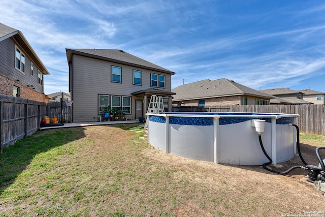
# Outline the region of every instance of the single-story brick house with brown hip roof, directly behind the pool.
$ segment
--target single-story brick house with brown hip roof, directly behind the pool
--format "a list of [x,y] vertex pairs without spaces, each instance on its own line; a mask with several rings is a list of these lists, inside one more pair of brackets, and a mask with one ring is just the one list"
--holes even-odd
[[275,99],[225,78],[184,84],[172,91],[176,92],[173,105],[178,106],[269,105]]

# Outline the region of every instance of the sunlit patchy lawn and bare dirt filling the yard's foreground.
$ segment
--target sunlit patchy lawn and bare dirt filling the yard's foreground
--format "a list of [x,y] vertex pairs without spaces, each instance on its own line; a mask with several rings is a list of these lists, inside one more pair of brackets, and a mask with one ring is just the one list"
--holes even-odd
[[[306,171],[283,176],[262,166],[186,159],[152,147],[128,127],[32,136],[39,143],[48,134],[70,140],[37,152],[6,185],[0,216],[325,216],[323,192],[303,180]],[[320,145],[301,142],[305,161],[318,165]],[[281,165],[272,169],[302,162],[295,156]]]

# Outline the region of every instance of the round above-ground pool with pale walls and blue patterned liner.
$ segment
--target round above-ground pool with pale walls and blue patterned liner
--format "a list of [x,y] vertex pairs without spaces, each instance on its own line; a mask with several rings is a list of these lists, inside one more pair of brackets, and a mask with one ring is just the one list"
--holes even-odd
[[[166,153],[216,164],[263,165],[269,162],[252,127],[265,120],[263,145],[273,164],[296,153],[298,114],[273,113],[147,113],[148,142]],[[254,125],[253,125],[254,126]]]

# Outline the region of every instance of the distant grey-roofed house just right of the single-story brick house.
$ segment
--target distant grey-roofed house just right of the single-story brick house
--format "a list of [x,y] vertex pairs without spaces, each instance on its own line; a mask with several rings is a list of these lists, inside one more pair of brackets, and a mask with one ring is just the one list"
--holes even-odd
[[263,89],[260,90],[266,94],[273,95],[275,97],[281,98],[289,103],[274,103],[271,101],[271,104],[312,104],[311,102],[303,100],[304,92],[299,90],[292,90],[289,88],[274,88],[274,89]]

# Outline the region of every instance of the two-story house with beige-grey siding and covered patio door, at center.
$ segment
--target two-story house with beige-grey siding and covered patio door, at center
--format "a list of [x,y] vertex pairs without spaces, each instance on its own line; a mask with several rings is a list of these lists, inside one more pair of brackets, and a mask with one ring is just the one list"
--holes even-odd
[[66,49],[73,122],[93,121],[102,109],[122,109],[126,118],[144,117],[152,95],[171,110],[175,73],[123,50]]

